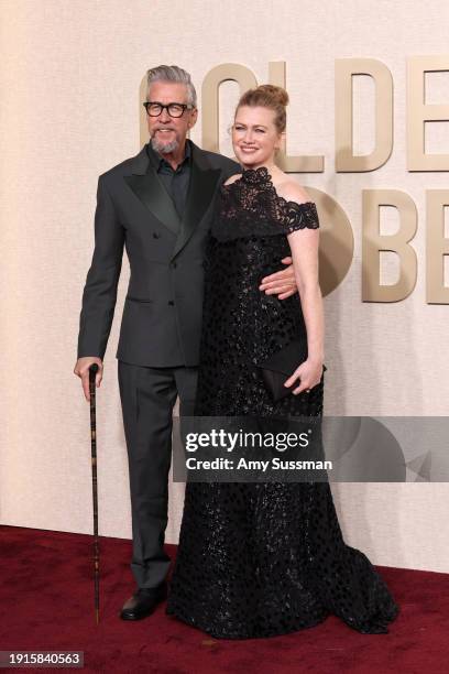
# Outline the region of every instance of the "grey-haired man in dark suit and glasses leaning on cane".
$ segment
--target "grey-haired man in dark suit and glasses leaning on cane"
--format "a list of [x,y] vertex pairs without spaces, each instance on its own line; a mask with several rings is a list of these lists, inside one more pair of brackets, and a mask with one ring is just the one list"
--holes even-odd
[[[172,412],[193,414],[202,308],[202,257],[217,191],[240,166],[201,151],[187,132],[197,120],[195,87],[177,66],[147,72],[144,104],[151,142],[100,175],[95,250],[83,294],[75,374],[89,400],[112,324],[123,246],[131,268],[120,328],[118,373],[132,507],[131,569],[138,590],[121,618],[138,620],[166,596],[164,552]],[[291,262],[289,259],[284,262]],[[293,268],[263,280],[261,291],[296,292]]]

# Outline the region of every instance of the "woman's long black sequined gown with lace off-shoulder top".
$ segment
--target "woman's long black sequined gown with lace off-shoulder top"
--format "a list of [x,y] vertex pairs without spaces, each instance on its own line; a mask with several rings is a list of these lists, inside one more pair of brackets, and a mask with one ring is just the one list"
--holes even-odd
[[[310,393],[272,402],[254,363],[305,330],[298,296],[261,279],[291,254],[286,235],[317,228],[314,203],[277,196],[265,167],[223,185],[206,256],[196,414],[322,414]],[[328,482],[187,482],[167,609],[217,639],[286,634],[333,613],[387,632],[398,607],[368,557],[347,545]]]

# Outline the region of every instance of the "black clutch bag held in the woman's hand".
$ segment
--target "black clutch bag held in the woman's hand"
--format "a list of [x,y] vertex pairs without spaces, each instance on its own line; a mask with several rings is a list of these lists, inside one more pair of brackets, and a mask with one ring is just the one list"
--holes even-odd
[[[288,379],[296,368],[307,360],[307,343],[292,341],[288,346],[281,349],[266,360],[258,365],[262,372],[265,387],[270,391],[274,402],[289,395],[298,385],[298,380],[292,387],[284,387],[284,381]],[[324,365],[322,370],[327,367]]]

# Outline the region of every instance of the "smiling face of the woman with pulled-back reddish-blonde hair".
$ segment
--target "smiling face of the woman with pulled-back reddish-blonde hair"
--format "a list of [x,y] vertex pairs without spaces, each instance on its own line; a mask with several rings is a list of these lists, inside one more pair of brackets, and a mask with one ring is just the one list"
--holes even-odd
[[274,152],[281,146],[281,133],[274,124],[275,112],[262,106],[242,106],[232,126],[232,146],[243,166],[256,168],[274,164]]

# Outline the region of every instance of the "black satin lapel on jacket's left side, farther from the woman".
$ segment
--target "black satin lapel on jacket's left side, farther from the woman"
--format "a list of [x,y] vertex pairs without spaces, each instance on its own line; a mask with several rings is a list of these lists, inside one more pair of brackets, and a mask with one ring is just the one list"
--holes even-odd
[[[142,204],[165,225],[167,229],[177,235],[180,228],[180,220],[173,200],[158,180],[157,173],[150,164],[150,161],[143,166],[141,155],[142,153],[138,155],[140,161],[136,163],[135,170],[132,171],[132,175],[125,175],[123,177]],[[145,172],[143,172],[143,170]]]

